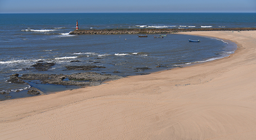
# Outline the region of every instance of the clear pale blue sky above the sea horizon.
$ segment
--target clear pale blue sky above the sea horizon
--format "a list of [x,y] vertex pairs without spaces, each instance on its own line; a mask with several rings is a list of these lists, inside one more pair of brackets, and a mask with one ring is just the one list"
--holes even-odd
[[0,13],[256,12],[256,0],[0,0]]

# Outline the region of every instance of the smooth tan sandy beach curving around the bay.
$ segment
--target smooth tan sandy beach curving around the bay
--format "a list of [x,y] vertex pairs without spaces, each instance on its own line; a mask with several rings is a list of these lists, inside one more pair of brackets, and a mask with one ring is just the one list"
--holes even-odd
[[256,31],[197,31],[235,54],[0,102],[0,139],[256,139]]

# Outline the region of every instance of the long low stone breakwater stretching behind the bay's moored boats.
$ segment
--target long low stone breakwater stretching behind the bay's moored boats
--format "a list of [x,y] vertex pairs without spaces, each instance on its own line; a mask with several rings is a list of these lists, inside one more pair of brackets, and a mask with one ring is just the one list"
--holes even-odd
[[104,30],[74,30],[70,35],[89,35],[89,34],[171,34],[174,32],[186,31],[249,31],[256,30],[256,27],[249,28],[190,28],[190,29],[104,29]]

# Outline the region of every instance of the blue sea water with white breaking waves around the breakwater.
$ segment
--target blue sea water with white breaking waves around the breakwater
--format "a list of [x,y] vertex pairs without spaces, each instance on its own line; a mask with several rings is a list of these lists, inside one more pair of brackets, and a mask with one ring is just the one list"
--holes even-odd
[[[178,29],[256,27],[256,13],[26,13],[0,14],[0,91],[10,97],[26,97],[28,85],[6,82],[11,74],[71,74],[65,66],[104,66],[98,73],[131,76],[187,64],[227,57],[236,45],[226,40],[167,34],[163,39],[137,35],[69,35],[79,29]],[[188,39],[201,40],[189,43]],[[37,71],[38,61],[55,63],[48,71]],[[71,62],[79,60],[79,62]],[[160,67],[157,67],[160,66]],[[149,67],[135,71],[138,67]],[[118,71],[120,73],[113,73]],[[32,84],[42,91],[66,90],[64,86]],[[74,88],[74,87],[70,87]]]

